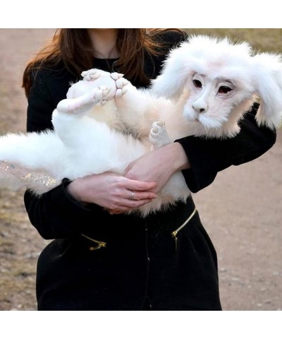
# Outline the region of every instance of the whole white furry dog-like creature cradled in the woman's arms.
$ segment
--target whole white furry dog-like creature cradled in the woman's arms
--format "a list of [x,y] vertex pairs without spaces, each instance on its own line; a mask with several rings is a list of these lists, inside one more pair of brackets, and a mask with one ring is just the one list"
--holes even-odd
[[[0,138],[0,186],[42,194],[64,177],[123,174],[135,158],[176,138],[232,137],[257,96],[259,124],[281,123],[281,56],[255,55],[246,42],[191,37],[171,51],[149,90],[117,73],[82,76],[54,110],[54,131]],[[189,194],[179,172],[138,211],[145,216]]]

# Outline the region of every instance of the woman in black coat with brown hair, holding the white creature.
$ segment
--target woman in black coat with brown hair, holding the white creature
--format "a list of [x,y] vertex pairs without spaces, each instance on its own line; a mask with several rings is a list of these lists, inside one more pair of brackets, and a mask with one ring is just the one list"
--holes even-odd
[[[81,71],[119,71],[146,87],[168,51],[185,38],[180,30],[59,30],[23,76],[27,131],[52,128],[53,110]],[[255,109],[235,138],[190,136],[143,155],[124,177],[66,178],[41,198],[27,191],[32,225],[54,239],[38,260],[38,309],[221,310],[216,251],[192,198],[147,218],[124,212],[151,201],[179,170],[197,192],[222,169],[269,150],[276,135],[257,126]]]

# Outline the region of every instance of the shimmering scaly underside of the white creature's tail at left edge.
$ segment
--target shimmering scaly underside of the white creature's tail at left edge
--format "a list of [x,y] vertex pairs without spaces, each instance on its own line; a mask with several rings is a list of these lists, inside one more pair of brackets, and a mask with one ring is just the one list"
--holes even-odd
[[36,194],[53,189],[59,183],[46,172],[37,169],[27,169],[18,164],[0,160],[0,188],[17,191],[31,189]]

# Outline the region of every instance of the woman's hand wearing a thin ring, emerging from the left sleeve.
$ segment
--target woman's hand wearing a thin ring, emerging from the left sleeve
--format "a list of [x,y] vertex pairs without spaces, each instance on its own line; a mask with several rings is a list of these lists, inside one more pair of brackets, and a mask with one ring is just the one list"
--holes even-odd
[[67,191],[82,203],[96,203],[111,213],[124,213],[157,198],[153,193],[156,185],[106,172],[76,179],[67,186]]

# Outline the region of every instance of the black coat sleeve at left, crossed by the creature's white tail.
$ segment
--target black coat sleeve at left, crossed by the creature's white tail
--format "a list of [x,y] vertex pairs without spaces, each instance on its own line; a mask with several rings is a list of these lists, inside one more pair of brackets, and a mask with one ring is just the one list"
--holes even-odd
[[[44,77],[38,75],[35,79],[28,97],[27,131],[38,132],[52,129],[51,114],[57,102],[51,97]],[[64,179],[61,185],[39,197],[29,190],[25,192],[30,222],[44,239],[72,237],[82,232],[82,227],[90,227],[89,215],[102,210],[94,204],[85,208],[75,201],[66,191],[68,184],[68,179]]]

